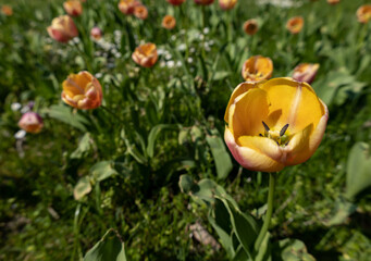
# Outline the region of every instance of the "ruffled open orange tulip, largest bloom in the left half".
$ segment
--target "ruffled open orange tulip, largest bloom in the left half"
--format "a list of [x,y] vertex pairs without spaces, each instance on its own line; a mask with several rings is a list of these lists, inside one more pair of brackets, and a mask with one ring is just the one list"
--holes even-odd
[[62,100],[77,109],[96,109],[102,102],[102,87],[89,72],[70,74],[63,82]]

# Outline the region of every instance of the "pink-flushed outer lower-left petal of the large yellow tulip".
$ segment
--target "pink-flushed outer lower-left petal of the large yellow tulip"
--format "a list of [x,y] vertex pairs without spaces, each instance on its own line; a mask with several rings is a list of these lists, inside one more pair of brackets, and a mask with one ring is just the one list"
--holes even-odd
[[236,161],[242,166],[248,170],[262,172],[277,172],[284,167],[284,164],[273,160],[272,158],[264,153],[261,153],[249,147],[238,146],[228,127],[225,128],[224,139]]

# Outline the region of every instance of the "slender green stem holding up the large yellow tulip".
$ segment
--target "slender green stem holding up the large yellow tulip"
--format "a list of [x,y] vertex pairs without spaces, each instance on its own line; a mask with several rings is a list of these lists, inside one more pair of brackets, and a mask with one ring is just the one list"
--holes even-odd
[[255,250],[258,251],[260,248],[260,245],[262,240],[265,237],[265,234],[268,232],[268,227],[271,223],[271,217],[273,213],[273,198],[274,198],[274,188],[276,183],[276,173],[270,173],[269,174],[269,192],[268,192],[268,209],[267,214],[264,217],[263,226],[260,229],[259,236],[255,243]]

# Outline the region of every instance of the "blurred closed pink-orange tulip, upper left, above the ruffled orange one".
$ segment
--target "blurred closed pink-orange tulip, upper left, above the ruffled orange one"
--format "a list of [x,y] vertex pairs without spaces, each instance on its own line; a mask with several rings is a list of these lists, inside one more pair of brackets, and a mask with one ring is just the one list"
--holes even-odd
[[69,15],[53,18],[47,30],[51,38],[60,42],[67,42],[78,35],[76,25]]

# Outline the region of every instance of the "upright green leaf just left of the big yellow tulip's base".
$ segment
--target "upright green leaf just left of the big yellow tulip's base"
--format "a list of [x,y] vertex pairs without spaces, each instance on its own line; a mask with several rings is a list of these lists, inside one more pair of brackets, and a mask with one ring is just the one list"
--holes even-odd
[[219,136],[207,136],[206,140],[214,158],[218,177],[225,178],[232,171],[233,164],[222,138]]

